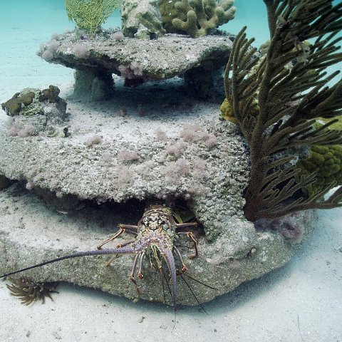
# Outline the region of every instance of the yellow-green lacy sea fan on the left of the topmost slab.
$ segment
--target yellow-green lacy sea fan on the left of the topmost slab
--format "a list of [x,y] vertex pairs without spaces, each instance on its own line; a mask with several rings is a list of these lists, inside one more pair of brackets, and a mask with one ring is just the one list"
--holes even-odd
[[122,0],[66,0],[68,19],[90,35],[97,31]]

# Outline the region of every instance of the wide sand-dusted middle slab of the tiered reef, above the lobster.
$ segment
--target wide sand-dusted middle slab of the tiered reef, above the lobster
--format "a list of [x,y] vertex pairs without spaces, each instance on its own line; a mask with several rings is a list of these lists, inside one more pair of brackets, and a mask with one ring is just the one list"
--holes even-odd
[[[190,104],[170,90],[160,90],[150,103],[156,90],[149,91],[137,103],[129,96],[134,90],[125,93],[122,101],[131,101],[127,110],[133,113],[127,117],[95,104],[78,111],[78,103],[70,102],[68,138],[11,137],[3,130],[0,174],[58,197],[190,199],[207,234],[217,236],[220,224],[213,228],[214,222],[241,215],[244,205],[248,157],[237,125],[217,120],[214,104]],[[110,103],[105,105],[110,110]]]

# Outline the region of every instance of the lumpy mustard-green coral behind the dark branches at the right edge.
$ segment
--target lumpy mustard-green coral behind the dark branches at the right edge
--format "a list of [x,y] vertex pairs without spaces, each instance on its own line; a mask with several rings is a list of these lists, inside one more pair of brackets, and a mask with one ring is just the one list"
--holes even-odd
[[342,185],[342,146],[314,145],[309,157],[299,160],[296,167],[301,169],[298,177],[316,172],[315,181],[306,186],[310,196],[324,189]]

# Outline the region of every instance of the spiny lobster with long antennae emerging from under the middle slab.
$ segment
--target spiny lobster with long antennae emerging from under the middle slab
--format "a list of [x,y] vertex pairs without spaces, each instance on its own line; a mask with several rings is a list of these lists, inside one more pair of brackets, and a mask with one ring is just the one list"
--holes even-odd
[[[98,250],[78,252],[75,254],[68,254],[56,259],[43,261],[40,264],[28,266],[24,269],[19,269],[17,271],[13,271],[7,274],[2,274],[0,278],[4,278],[6,276],[11,276],[12,274],[27,271],[28,269],[35,269],[36,267],[41,267],[46,264],[51,264],[53,262],[61,261],[64,259],[87,257],[90,255],[99,254],[115,254],[107,262],[107,265],[109,265],[117,254],[136,254],[133,261],[132,271],[130,272],[130,281],[132,281],[133,284],[135,284],[137,291],[139,293],[138,285],[135,281],[135,270],[137,268],[137,265],[139,263],[138,277],[140,279],[143,278],[143,264],[145,257],[150,257],[151,259],[154,258],[155,261],[157,261],[158,267],[161,269],[161,261],[158,256],[159,253],[162,256],[162,258],[165,259],[167,267],[170,271],[170,277],[172,281],[172,300],[174,309],[176,311],[177,269],[173,254],[175,254],[178,257],[178,259],[180,259],[180,262],[182,264],[180,274],[183,274],[185,271],[187,271],[187,266],[185,265],[182,259],[180,251],[177,249],[177,247],[175,247],[175,240],[177,235],[186,235],[187,237],[189,237],[195,245],[195,254],[190,256],[190,258],[198,257],[197,241],[194,237],[194,234],[190,231],[180,231],[181,229],[191,229],[194,227],[197,227],[197,222],[176,223],[172,209],[170,209],[169,207],[166,207],[165,205],[159,203],[149,204],[147,205],[147,207],[145,207],[145,211],[142,214],[142,218],[138,222],[138,225],[119,224],[118,232],[116,232],[109,239],[105,240],[105,242],[103,242],[102,244],[98,245]],[[124,244],[119,244],[116,248],[102,249],[103,245],[107,244],[110,241],[113,241],[124,232],[134,234],[136,236],[135,240],[126,242]]]

